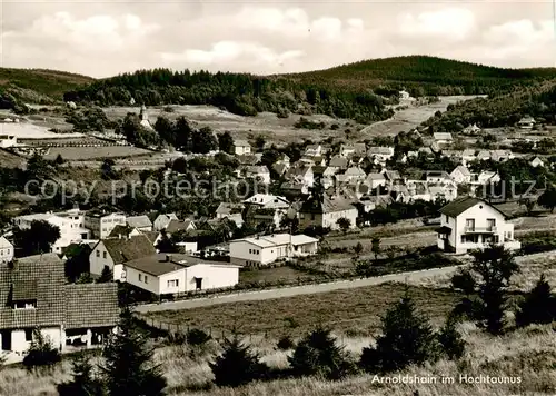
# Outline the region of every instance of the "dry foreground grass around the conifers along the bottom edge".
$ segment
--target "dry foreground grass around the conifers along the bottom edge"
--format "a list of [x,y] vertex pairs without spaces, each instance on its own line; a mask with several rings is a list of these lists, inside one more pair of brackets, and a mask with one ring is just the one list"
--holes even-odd
[[[321,378],[280,379],[252,383],[240,388],[211,387],[212,374],[207,364],[218,354],[219,347],[210,341],[202,349],[185,346],[162,346],[156,359],[168,379],[169,396],[338,396],[388,395],[407,396],[418,390],[419,396],[490,396],[555,394],[556,337],[552,326],[534,326],[502,337],[492,337],[470,324],[460,327],[468,343],[467,354],[459,363],[440,360],[435,365],[409,367],[400,375],[438,378],[436,384],[378,384],[374,376],[360,374],[340,382]],[[357,358],[371,338],[344,339],[346,349]],[[274,368],[286,368],[289,352],[276,350],[276,339],[259,337],[252,345]],[[56,385],[69,378],[70,364],[63,362],[51,372],[29,374],[17,367],[0,372],[0,395],[56,396]],[[460,375],[520,377],[520,384],[466,384]],[[441,384],[439,378],[454,377],[454,384]]]

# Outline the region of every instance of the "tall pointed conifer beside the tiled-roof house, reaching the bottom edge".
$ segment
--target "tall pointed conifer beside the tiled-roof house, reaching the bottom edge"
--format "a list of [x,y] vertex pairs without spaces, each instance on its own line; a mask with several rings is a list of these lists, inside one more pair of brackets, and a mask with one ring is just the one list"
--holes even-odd
[[118,327],[103,349],[101,370],[108,395],[163,395],[166,379],[153,364],[153,350],[146,346],[148,337],[138,328],[129,307],[122,309]]

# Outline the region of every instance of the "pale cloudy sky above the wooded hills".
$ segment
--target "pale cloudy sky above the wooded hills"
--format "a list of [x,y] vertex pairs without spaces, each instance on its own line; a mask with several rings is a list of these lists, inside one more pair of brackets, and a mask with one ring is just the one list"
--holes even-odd
[[96,78],[284,73],[404,55],[556,66],[552,0],[0,0],[0,66]]

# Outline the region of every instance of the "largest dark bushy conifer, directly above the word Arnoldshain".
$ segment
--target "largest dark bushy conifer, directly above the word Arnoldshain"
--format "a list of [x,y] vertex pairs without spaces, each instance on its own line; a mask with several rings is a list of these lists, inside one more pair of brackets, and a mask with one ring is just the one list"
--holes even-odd
[[381,328],[376,347],[363,349],[359,360],[363,369],[388,373],[439,357],[440,345],[428,319],[417,313],[407,295],[386,313]]

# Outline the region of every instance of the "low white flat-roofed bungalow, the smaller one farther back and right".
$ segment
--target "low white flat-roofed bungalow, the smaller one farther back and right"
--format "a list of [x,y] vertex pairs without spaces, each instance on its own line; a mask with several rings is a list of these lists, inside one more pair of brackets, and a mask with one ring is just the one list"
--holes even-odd
[[315,255],[318,239],[306,235],[275,234],[230,241],[230,263],[260,267],[288,257]]

